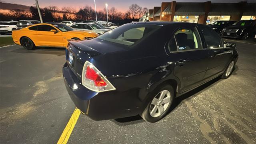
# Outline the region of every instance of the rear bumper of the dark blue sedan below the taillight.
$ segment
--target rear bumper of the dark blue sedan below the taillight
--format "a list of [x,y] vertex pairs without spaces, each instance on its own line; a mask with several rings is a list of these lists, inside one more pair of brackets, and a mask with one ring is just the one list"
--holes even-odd
[[64,64],[62,73],[70,98],[76,107],[92,120],[124,118],[139,114],[141,102],[138,99],[138,90],[94,92],[81,84],[67,63]]

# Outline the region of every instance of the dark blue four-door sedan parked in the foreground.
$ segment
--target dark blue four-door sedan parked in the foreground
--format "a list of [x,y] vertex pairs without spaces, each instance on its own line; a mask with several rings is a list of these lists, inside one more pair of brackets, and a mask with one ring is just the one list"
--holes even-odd
[[234,70],[238,52],[208,26],[135,22],[70,41],[63,76],[76,107],[93,120],[163,118],[174,98]]

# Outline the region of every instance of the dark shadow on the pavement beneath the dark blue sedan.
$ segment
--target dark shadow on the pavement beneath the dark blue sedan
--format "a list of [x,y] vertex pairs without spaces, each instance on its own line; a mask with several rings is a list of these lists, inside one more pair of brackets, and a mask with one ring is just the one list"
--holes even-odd
[[[236,66],[235,70],[234,70],[234,74],[236,74],[235,72],[238,70],[238,67]],[[172,112],[172,110],[174,110],[175,108],[178,107],[178,105],[185,99],[194,96],[194,94],[202,91],[202,90],[206,90],[210,85],[214,84],[215,82],[218,82],[218,80],[221,79],[221,76],[214,78],[213,80],[206,82],[205,84],[203,84],[202,86],[199,86],[198,88],[195,88],[194,90],[191,90],[190,92],[183,94],[177,98],[174,99],[174,103],[172,104],[168,114],[170,112]],[[192,98],[192,97],[191,97]],[[137,124],[140,122],[146,122],[144,121],[139,115],[137,116],[132,116],[132,117],[126,117],[126,118],[118,118],[115,120],[110,120],[112,122],[114,122],[115,124],[119,125],[119,126],[126,126],[126,125],[131,125],[131,124]]]

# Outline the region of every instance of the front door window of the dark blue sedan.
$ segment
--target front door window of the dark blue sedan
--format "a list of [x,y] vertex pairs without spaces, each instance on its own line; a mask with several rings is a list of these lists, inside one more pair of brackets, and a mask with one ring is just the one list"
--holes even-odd
[[216,32],[214,32],[211,28],[208,28],[206,26],[199,26],[199,28],[204,36],[207,48],[222,47],[222,41],[220,39],[220,36],[218,36]]

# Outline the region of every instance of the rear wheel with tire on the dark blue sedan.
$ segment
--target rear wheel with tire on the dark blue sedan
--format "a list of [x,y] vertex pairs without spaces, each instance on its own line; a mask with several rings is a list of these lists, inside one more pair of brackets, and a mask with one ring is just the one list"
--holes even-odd
[[151,100],[146,106],[141,117],[147,122],[157,122],[161,120],[172,105],[174,100],[174,90],[169,84],[162,84],[152,92]]

